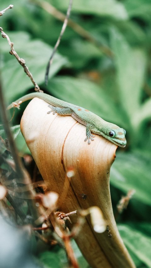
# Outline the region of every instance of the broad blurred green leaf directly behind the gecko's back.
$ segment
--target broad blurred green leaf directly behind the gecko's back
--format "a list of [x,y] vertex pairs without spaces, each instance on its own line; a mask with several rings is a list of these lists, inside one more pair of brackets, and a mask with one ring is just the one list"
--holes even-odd
[[91,81],[68,76],[58,76],[49,81],[50,94],[84,107],[104,120],[124,125],[118,108],[101,87]]

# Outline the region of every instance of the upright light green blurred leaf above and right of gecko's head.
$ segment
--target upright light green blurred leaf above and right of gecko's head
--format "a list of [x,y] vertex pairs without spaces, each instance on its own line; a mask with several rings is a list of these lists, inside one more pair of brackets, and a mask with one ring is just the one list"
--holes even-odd
[[131,120],[140,107],[146,55],[142,49],[131,48],[115,28],[111,31],[111,44],[115,55],[120,102]]

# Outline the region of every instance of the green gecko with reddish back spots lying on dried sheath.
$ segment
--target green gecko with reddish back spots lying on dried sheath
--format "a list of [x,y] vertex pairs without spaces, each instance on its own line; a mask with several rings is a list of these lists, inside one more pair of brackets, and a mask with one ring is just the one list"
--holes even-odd
[[[60,115],[71,115],[79,123],[86,126],[86,138],[84,141],[88,140],[88,144],[90,144],[90,140],[94,140],[93,138],[95,136],[92,133],[95,133],[103,136],[110,142],[113,142],[120,147],[126,146],[126,131],[123,128],[120,128],[115,124],[103,120],[98,115],[93,114],[92,112],[82,107],[76,106],[74,104],[65,102],[63,100],[54,98],[48,94],[40,92],[27,94],[22,98],[16,100],[15,103],[20,104],[33,98],[40,98],[53,106],[52,107],[51,105],[48,105],[49,107],[51,107],[51,111],[49,111],[48,114],[53,112],[53,114],[58,113]],[[11,109],[14,106],[14,103],[11,103],[7,109]]]

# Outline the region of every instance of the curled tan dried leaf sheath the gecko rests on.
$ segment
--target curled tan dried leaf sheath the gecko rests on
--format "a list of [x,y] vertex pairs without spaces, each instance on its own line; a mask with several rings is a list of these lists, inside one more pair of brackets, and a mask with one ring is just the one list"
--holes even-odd
[[[117,146],[96,135],[90,145],[84,142],[86,128],[71,116],[47,114],[48,103],[34,98],[21,119],[21,131],[47,183],[59,193],[59,210],[68,213],[98,206],[109,226],[96,233],[87,216],[76,237],[81,252],[91,267],[135,267],[116,227],[109,190],[109,172]],[[75,175],[65,183],[68,168]],[[72,216],[72,223],[77,216]]]

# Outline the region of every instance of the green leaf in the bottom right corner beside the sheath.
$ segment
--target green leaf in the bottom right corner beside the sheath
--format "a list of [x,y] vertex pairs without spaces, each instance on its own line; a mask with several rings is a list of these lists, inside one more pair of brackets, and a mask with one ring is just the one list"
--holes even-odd
[[126,224],[119,224],[118,229],[126,247],[147,267],[151,267],[151,238]]

